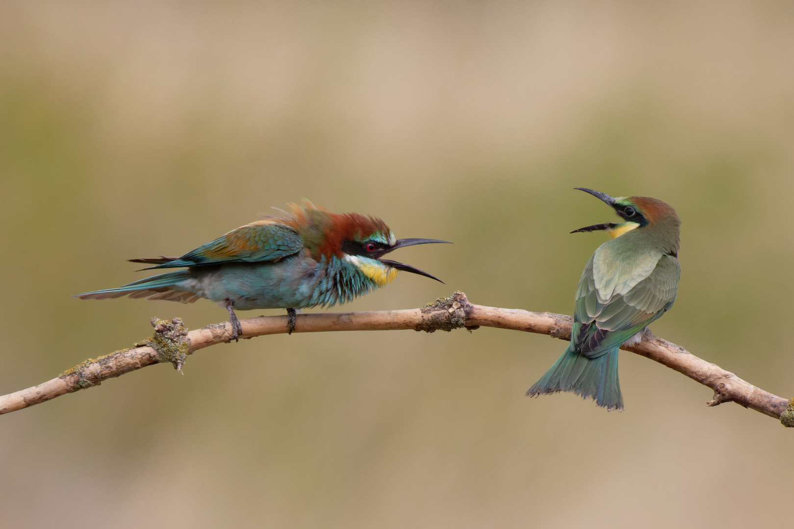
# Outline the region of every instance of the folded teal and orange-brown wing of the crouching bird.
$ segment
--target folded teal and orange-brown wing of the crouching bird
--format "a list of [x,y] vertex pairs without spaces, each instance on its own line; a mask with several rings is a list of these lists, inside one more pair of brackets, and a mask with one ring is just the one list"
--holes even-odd
[[301,249],[303,249],[303,239],[294,228],[276,219],[265,219],[234,229],[179,258],[132,259],[132,261],[156,264],[151,268],[262,263],[278,261]]

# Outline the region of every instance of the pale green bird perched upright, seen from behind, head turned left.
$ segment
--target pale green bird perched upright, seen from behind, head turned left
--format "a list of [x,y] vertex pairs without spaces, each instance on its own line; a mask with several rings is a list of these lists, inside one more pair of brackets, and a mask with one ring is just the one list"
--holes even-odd
[[673,208],[656,198],[613,198],[576,189],[611,205],[625,222],[571,232],[604,230],[612,239],[584,266],[570,345],[526,395],[572,391],[609,410],[622,410],[618,350],[624,343],[638,343],[646,326],[676,300],[680,220]]

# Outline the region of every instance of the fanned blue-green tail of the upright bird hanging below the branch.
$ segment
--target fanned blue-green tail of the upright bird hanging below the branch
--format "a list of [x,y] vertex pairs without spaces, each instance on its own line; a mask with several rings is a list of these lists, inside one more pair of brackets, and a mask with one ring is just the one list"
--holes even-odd
[[618,379],[618,347],[596,358],[565,350],[546,374],[526,392],[527,397],[572,391],[580,397],[592,397],[595,404],[609,410],[623,409]]

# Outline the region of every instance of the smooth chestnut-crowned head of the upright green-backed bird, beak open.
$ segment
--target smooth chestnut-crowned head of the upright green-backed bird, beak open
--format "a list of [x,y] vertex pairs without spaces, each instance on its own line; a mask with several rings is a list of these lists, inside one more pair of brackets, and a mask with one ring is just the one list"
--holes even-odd
[[643,232],[653,233],[655,238],[660,240],[665,251],[671,255],[677,254],[680,246],[679,227],[681,223],[676,215],[676,210],[665,202],[651,197],[610,197],[608,194],[588,190],[585,187],[574,189],[592,194],[611,205],[612,209],[615,209],[615,213],[618,213],[618,216],[624,221],[593,224],[571,233],[603,230],[615,239],[634,229],[642,229]]

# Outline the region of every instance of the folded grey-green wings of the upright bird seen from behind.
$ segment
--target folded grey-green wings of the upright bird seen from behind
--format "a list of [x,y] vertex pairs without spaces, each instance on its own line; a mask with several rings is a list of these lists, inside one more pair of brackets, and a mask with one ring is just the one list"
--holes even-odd
[[[680,277],[678,259],[661,254],[651,256],[658,260],[648,273],[638,273],[637,267],[622,271],[617,267],[617,277],[604,281],[595,277],[593,258],[584,267],[576,291],[571,340],[572,348],[587,358],[619,347],[664,314],[673,306]],[[597,288],[599,283],[609,287],[607,297]]]

